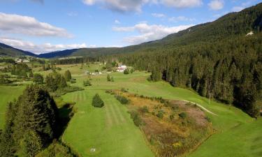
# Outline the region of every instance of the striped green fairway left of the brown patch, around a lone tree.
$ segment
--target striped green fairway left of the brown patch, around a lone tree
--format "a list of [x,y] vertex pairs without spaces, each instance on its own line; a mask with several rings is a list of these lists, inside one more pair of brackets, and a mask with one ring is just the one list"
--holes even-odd
[[[105,106],[91,105],[94,92]],[[104,91],[78,91],[64,96],[75,100],[78,112],[71,120],[63,140],[82,156],[154,156],[139,128],[133,125],[126,107]],[[92,152],[91,150],[96,151]]]

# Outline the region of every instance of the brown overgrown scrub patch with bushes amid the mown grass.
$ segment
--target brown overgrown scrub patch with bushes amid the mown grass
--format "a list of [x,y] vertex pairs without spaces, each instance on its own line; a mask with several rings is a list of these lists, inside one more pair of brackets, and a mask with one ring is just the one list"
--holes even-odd
[[110,93],[129,99],[127,107],[136,115],[134,123],[143,130],[156,156],[182,156],[213,133],[205,113],[196,105],[117,90]]

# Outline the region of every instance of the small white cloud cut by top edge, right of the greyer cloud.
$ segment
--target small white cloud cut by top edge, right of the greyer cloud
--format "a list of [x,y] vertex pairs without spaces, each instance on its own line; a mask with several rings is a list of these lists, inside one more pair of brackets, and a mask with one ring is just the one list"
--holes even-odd
[[160,0],[165,6],[175,8],[192,8],[203,4],[202,0]]

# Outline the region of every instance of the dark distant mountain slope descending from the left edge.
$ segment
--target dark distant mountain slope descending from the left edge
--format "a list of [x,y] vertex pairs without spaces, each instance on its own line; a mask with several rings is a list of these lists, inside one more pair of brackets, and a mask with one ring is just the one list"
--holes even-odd
[[0,43],[0,57],[17,57],[17,56],[31,56],[31,57],[38,57],[37,54],[20,50],[11,46],[8,46],[6,44]]

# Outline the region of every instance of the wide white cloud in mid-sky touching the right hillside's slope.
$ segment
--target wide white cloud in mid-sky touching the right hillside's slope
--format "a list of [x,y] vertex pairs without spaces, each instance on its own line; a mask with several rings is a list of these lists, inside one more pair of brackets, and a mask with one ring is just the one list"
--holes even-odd
[[138,31],[138,36],[129,36],[124,38],[124,41],[129,44],[139,44],[150,40],[158,40],[170,33],[177,33],[189,27],[194,26],[193,24],[182,25],[178,27],[166,27],[163,25],[149,25],[147,23],[139,23],[133,27],[113,27],[114,31]]

